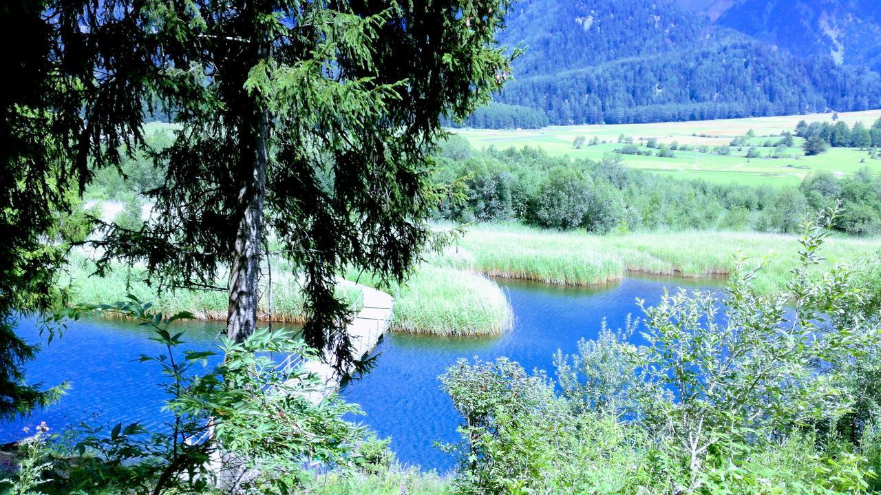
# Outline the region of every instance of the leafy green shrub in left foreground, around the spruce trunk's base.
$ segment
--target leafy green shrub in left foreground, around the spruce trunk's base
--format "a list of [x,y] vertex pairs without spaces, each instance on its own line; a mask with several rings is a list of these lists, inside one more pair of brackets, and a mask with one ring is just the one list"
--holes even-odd
[[[109,432],[82,425],[74,443],[55,447],[53,469],[63,477],[51,481],[54,492],[287,493],[307,482],[307,462],[350,463],[362,431],[342,417],[359,410],[324,396],[322,380],[302,365],[315,352],[292,332],[259,329],[242,343],[223,339],[223,361],[202,374],[215,351],[189,349],[183,333],[174,333],[174,321],[192,315],[163,317],[150,307],[132,297],[74,314],[111,312],[155,330],[166,351],[139,360],[160,367],[171,421],[155,432],[139,423]],[[293,366],[278,366],[273,354],[289,356]]]

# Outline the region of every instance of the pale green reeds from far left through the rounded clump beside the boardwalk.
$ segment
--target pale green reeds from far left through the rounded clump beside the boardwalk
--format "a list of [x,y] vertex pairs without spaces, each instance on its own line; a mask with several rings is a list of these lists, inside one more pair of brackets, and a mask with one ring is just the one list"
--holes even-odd
[[[406,284],[381,288],[395,296],[392,329],[403,333],[436,336],[493,336],[511,327],[513,316],[505,294],[498,284],[469,269],[468,263],[449,266],[453,257],[436,257],[441,265],[423,264]],[[265,286],[259,306],[259,318],[300,324],[306,321],[300,279],[292,271],[281,270],[284,263],[275,263],[279,270],[272,275],[271,305]],[[189,311],[201,320],[225,320],[227,294],[223,291],[176,290],[157,292],[144,284],[144,269],[118,265],[106,277],[93,276],[94,263],[82,255],[70,258],[72,304],[112,303],[133,294],[150,301],[164,314]],[[371,277],[348,274],[341,280],[337,295],[349,304],[356,304],[360,291],[353,283],[375,286]],[[265,284],[265,280],[264,280]]]

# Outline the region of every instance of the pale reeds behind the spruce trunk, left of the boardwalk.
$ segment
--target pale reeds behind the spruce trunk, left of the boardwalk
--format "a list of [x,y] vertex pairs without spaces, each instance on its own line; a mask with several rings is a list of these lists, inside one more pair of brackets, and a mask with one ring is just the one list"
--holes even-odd
[[[164,314],[189,311],[201,320],[226,320],[229,304],[226,291],[179,289],[157,292],[156,287],[144,283],[143,268],[116,265],[106,277],[93,276],[94,270],[94,262],[84,256],[70,256],[70,275],[62,282],[70,284],[73,304],[109,304],[124,299],[126,294],[132,294],[138,299],[152,302],[153,308]],[[272,274],[272,290],[266,291],[266,286],[264,279],[258,306],[261,320],[284,323],[306,321],[305,299],[298,277],[290,271],[278,270]],[[337,296],[349,304],[355,304],[359,294],[354,284],[343,281],[337,285]]]

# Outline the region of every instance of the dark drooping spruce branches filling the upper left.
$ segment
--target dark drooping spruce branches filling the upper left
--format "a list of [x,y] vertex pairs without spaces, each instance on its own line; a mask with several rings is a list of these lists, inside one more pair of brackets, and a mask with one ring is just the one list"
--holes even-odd
[[[351,362],[335,277],[401,278],[430,235],[429,153],[503,84],[508,2],[15,1],[0,8],[4,321],[51,307],[63,214],[94,171],[147,153],[167,170],[151,222],[103,225],[103,261],[144,262],[165,288],[230,293],[227,334],[256,321],[266,255],[292,261],[313,314],[304,335]],[[153,149],[149,115],[173,115]],[[79,240],[82,236],[80,236]],[[228,281],[228,283],[226,283]],[[14,297],[13,297],[14,296]],[[5,349],[33,354],[4,326]],[[351,364],[351,363],[350,363]],[[4,394],[21,382],[16,366]],[[12,403],[17,399],[11,399]],[[29,400],[29,403],[33,403]]]

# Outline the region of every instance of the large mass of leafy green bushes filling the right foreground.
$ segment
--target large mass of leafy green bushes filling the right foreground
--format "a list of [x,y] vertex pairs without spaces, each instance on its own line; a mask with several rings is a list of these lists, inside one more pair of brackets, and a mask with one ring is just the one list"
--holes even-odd
[[[784,292],[741,260],[724,297],[639,302],[637,328],[555,356],[559,388],[506,358],[441,376],[462,416],[459,493],[859,494],[881,466],[877,312],[814,268],[837,211],[803,224]],[[871,357],[870,360],[866,360]]]

